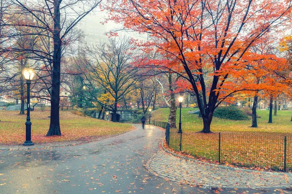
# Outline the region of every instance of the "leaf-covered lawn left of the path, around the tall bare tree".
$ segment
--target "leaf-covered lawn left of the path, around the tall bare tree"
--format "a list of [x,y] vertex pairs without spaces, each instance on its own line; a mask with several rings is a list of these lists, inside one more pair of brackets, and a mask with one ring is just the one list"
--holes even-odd
[[[60,111],[60,128],[62,136],[46,137],[50,126],[50,111],[31,112],[32,141],[35,144],[64,142],[75,140],[92,140],[98,137],[120,134],[132,129],[124,123],[113,123],[79,116],[70,111]],[[26,115],[19,111],[0,111],[0,145],[19,145],[25,141]]]

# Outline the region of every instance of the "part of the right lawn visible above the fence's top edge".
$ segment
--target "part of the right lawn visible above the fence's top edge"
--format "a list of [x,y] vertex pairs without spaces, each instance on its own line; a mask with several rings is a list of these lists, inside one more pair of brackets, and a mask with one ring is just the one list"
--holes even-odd
[[[193,108],[182,108],[182,129],[186,131],[200,131],[203,123],[198,114],[189,114],[188,111],[193,111]],[[177,125],[179,122],[179,109],[177,110]],[[151,113],[151,119],[155,121],[168,121],[169,109],[158,109]],[[211,131],[256,131],[256,132],[281,132],[292,133],[291,114],[292,111],[277,111],[277,116],[273,116],[273,123],[268,123],[269,111],[258,110],[257,114],[261,118],[257,119],[258,128],[250,128],[251,120],[234,121],[228,119],[220,119],[213,117]],[[274,114],[274,112],[273,112]],[[178,126],[177,126],[178,127]]]

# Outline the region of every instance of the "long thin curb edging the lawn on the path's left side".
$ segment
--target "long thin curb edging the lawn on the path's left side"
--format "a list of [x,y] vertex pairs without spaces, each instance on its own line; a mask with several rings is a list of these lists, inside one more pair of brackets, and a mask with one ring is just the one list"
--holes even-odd
[[108,136],[108,137],[100,137],[99,139],[94,139],[94,140],[90,140],[90,141],[84,141],[84,142],[76,142],[76,143],[70,143],[70,144],[58,144],[58,145],[55,145],[55,146],[29,146],[29,147],[26,147],[26,146],[18,146],[18,147],[8,147],[6,146],[7,148],[5,148],[4,146],[1,147],[0,146],[0,151],[1,150],[5,150],[5,151],[9,151],[9,150],[30,150],[30,149],[49,149],[49,148],[55,148],[55,147],[66,147],[66,146],[78,146],[78,145],[81,145],[81,144],[88,144],[88,143],[91,143],[91,142],[98,142],[98,141],[101,141],[101,140],[104,140],[104,139],[107,139],[107,138],[111,138],[111,137],[115,137],[115,136],[118,136],[118,135],[122,135],[122,134],[125,134],[125,133],[128,133],[132,130],[135,130],[137,129],[135,126],[133,126],[133,128],[129,131],[126,131],[126,132],[123,132],[123,133],[119,133],[119,134],[115,134],[115,135],[111,135],[111,136]]

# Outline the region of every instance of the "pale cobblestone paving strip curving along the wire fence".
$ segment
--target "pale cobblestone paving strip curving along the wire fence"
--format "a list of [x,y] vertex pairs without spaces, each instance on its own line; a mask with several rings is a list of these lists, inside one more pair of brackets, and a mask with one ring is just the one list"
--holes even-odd
[[162,148],[151,157],[147,167],[159,177],[203,187],[285,188],[292,185],[290,173],[262,172],[186,160]]

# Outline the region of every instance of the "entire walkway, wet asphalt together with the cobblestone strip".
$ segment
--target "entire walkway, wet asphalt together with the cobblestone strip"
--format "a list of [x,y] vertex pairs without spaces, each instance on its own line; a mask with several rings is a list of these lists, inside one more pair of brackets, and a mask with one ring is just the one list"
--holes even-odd
[[0,150],[0,194],[292,191],[291,174],[248,171],[175,157],[159,147],[163,130],[135,126],[136,130],[122,135],[77,146]]

